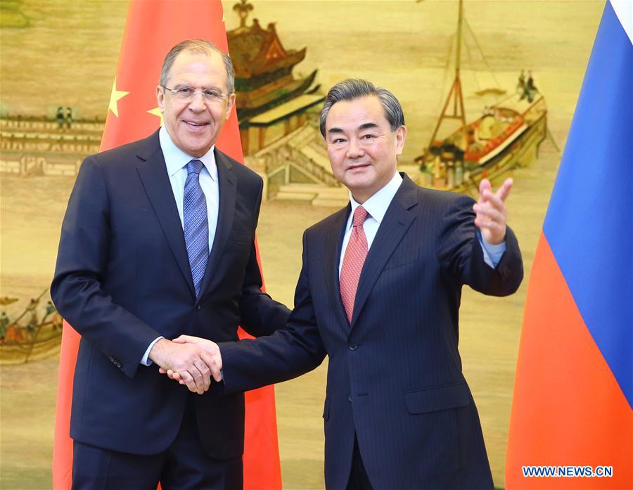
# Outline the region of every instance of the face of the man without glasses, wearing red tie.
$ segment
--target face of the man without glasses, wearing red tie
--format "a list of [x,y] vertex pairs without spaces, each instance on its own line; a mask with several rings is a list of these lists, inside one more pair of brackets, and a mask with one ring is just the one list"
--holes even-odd
[[407,129],[391,130],[381,101],[364,96],[335,103],[326,117],[326,143],[332,172],[362,203],[396,172]]

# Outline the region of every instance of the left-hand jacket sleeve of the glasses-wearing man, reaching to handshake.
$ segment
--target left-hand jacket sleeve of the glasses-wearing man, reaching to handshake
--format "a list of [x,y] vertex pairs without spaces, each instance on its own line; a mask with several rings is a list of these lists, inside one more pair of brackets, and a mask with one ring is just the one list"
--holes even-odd
[[133,378],[148,345],[160,334],[103,290],[110,214],[102,172],[94,157],[79,169],[62,224],[51,298],[72,328]]

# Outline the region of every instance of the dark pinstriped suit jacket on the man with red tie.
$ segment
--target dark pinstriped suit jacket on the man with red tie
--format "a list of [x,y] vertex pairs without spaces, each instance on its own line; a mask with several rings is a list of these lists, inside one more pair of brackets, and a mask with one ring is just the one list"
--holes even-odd
[[305,231],[288,328],[221,345],[226,392],[293,378],[328,355],[328,489],[347,484],[354,433],[376,489],[492,488],[457,350],[461,287],[509,295],[523,264],[510,228],[497,269],[485,264],[472,205],[404,176],[366,258],[351,325],[338,286],[348,205]]

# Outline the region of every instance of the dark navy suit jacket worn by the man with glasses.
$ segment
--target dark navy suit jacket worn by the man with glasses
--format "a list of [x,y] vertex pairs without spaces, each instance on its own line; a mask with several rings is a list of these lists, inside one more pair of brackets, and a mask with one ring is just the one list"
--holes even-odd
[[[262,179],[215,150],[219,215],[198,300],[158,132],[84,160],[63,221],[51,296],[81,335],[70,435],[153,454],[174,441],[186,387],[141,366],[158,335],[237,340],[238,324],[270,334],[289,311],[261,292],[253,243]],[[243,394],[195,396],[215,458],[243,452]]]

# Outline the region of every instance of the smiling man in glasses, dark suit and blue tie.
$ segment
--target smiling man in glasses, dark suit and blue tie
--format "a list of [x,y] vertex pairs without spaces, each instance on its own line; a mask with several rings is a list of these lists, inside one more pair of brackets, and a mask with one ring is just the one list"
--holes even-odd
[[209,354],[169,339],[286,323],[261,291],[262,179],[215,148],[235,101],[226,54],[199,39],[174,46],[156,90],[163,127],[87,157],[63,221],[51,295],[82,335],[73,487],[241,488],[243,394],[220,398]]

